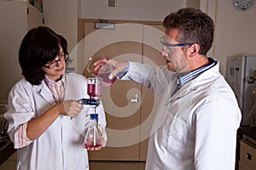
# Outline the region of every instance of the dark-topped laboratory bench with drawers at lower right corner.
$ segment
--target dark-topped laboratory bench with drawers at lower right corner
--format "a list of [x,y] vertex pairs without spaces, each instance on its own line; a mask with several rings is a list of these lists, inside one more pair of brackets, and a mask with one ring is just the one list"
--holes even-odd
[[255,170],[256,127],[239,127],[236,141],[236,170]]

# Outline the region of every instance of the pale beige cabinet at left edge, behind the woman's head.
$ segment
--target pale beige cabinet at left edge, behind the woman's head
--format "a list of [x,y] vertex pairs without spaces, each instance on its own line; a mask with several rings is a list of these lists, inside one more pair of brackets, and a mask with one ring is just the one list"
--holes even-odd
[[21,78],[18,59],[20,41],[26,32],[43,25],[43,14],[26,1],[0,1],[0,101],[8,98],[9,90]]

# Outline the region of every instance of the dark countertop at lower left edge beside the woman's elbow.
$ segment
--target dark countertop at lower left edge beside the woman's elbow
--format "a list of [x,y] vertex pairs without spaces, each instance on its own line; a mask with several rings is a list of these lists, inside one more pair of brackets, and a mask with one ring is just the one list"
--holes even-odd
[[2,143],[1,146],[3,146],[0,148],[0,165],[2,165],[15,152],[15,149],[9,138],[0,139],[0,142]]

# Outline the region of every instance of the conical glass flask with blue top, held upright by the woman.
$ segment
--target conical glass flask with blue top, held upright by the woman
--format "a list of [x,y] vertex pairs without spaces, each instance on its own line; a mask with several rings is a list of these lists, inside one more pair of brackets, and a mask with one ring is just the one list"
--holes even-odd
[[90,127],[84,138],[84,148],[96,148],[102,146],[102,134],[98,126],[98,114],[90,114]]

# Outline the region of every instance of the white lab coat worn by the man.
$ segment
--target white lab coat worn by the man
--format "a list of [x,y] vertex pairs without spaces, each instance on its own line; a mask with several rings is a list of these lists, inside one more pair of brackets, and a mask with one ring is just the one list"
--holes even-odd
[[176,94],[176,74],[165,67],[130,63],[124,80],[162,94],[148,143],[147,170],[234,170],[241,111],[218,65]]

